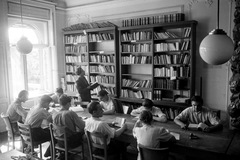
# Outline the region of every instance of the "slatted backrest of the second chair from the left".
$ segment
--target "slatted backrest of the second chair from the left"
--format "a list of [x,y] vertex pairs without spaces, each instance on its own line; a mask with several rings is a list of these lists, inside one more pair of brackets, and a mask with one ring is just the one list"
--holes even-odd
[[22,141],[30,145],[31,150],[34,151],[31,126],[27,124],[22,124],[20,122],[17,122],[17,124],[18,124],[18,129],[19,129]]

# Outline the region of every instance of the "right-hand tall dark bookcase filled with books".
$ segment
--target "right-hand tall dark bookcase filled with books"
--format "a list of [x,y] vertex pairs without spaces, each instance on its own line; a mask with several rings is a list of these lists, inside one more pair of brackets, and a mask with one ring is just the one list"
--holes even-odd
[[195,93],[196,21],[119,28],[120,99],[138,106],[144,98],[169,119]]

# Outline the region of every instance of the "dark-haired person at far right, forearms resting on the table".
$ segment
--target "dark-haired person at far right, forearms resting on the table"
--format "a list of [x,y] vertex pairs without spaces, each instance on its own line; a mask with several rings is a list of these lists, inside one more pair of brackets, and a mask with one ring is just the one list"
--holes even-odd
[[188,124],[205,123],[208,125],[203,131],[211,132],[216,129],[221,129],[222,124],[219,118],[206,107],[203,107],[203,99],[200,96],[193,96],[191,98],[192,106],[183,110],[174,122],[182,129],[187,129]]

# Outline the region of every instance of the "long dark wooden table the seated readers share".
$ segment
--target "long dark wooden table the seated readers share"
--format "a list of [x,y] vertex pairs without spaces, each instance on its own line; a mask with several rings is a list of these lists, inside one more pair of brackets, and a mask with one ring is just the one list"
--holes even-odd
[[[90,117],[91,115],[86,111],[77,112],[78,116]],[[103,115],[101,118],[106,122],[112,122],[116,117],[126,118],[127,130],[117,137],[116,139],[128,143],[135,143],[132,135],[132,129],[136,122],[136,119],[131,115],[118,114],[115,115]],[[226,159],[225,155],[228,151],[229,146],[235,136],[233,130],[224,128],[222,131],[215,131],[213,133],[205,133],[200,131],[186,131],[180,129],[173,121],[168,121],[167,123],[153,122],[153,125],[164,127],[171,132],[180,134],[180,140],[178,140],[171,148],[171,152],[178,153],[185,156],[197,157],[199,159]],[[199,139],[191,140],[189,139],[189,134],[193,133],[197,135]],[[240,134],[239,134],[240,136]],[[238,139],[239,140],[239,139]],[[239,142],[239,141],[238,141]],[[231,147],[230,147],[231,148]],[[233,149],[234,150],[234,149]],[[229,154],[230,151],[229,151]],[[240,153],[238,153],[240,154]]]

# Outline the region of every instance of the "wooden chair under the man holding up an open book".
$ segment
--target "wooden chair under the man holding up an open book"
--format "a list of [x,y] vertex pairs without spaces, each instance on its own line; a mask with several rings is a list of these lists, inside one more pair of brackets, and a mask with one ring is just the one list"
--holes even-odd
[[[87,142],[88,142],[90,160],[95,160],[95,159],[109,160],[109,159],[119,158],[120,154],[108,155],[107,135],[103,135],[102,133],[97,133],[97,132],[91,133],[89,131],[85,131],[85,134],[86,134]],[[97,138],[102,139],[103,145],[94,143],[92,137],[97,137]],[[94,153],[94,149],[103,150],[103,154]]]

